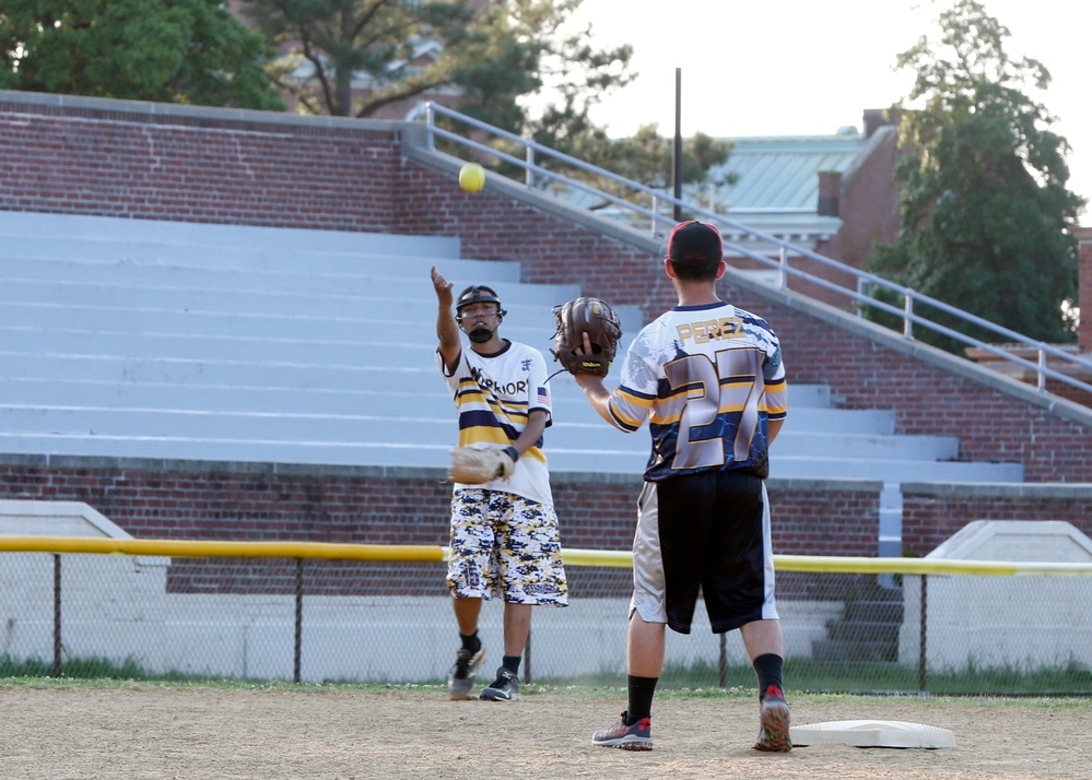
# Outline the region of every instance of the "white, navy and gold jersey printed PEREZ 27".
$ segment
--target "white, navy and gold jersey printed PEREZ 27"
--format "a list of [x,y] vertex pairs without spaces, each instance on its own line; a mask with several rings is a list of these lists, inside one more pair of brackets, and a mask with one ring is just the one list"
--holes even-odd
[[626,352],[611,393],[615,427],[647,419],[653,450],[645,478],[760,471],[767,421],[782,419],[788,390],[770,324],[726,303],[677,306],[645,326]]

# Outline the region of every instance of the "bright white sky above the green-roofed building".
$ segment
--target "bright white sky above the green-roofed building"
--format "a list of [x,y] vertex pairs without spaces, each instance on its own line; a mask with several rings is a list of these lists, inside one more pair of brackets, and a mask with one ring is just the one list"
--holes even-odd
[[[1092,202],[1092,5],[1073,0],[981,0],[1011,34],[1010,59],[1036,59],[1050,72],[1044,92],[1025,90],[1066,138],[1069,189]],[[899,54],[938,37],[935,20],[951,0],[584,0],[571,23],[590,23],[599,48],[630,44],[639,75],[592,118],[615,138],[657,123],[673,135],[680,72],[683,137],[833,134],[861,129],[868,108],[905,97],[909,70]],[[1081,218],[1092,225],[1092,206]]]

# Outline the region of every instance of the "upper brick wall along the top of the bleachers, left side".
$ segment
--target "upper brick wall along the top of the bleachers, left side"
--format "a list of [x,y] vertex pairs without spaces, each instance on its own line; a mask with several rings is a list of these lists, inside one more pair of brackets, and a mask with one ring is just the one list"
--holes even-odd
[[389,126],[5,95],[17,93],[0,92],[3,210],[339,231],[391,223],[400,158]]

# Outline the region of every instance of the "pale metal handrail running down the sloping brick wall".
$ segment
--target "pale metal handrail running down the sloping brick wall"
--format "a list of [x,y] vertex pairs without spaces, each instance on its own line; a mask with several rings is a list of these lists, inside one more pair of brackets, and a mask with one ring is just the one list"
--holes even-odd
[[[470,129],[486,133],[493,139],[510,142],[516,147],[524,149],[525,155],[524,157],[517,157],[494,149],[486,143],[475,141],[467,135],[451,132],[450,130],[438,127],[436,123],[437,116],[448,117],[457,122],[460,122],[461,125],[468,126]],[[1048,358],[1053,358],[1056,366],[1061,364],[1064,368],[1069,368],[1070,370],[1075,370],[1080,374],[1092,375],[1092,361],[1080,357],[1079,355],[1073,355],[1072,353],[1066,352],[1065,350],[1042,341],[1032,340],[1013,330],[1009,330],[1008,328],[946,304],[942,300],[918,293],[909,287],[895,284],[894,282],[883,279],[882,276],[878,276],[867,271],[861,271],[853,265],[847,265],[846,263],[834,260],[833,258],[829,258],[805,247],[783,240],[776,236],[763,233],[762,231],[758,231],[724,214],[717,214],[716,212],[709,211],[702,206],[677,199],[670,194],[623,178],[617,174],[612,174],[609,170],[590,165],[589,163],[562,152],[555,152],[548,146],[536,143],[535,141],[530,141],[505,130],[501,130],[500,128],[486,125],[485,122],[474,119],[473,117],[451,110],[450,108],[439,104],[427,104],[424,113],[424,122],[427,129],[427,144],[430,149],[435,149],[435,140],[437,138],[442,138],[467,149],[503,161],[524,170],[524,182],[528,188],[544,189],[545,186],[552,184],[563,186],[568,191],[576,191],[586,196],[591,196],[600,202],[615,208],[619,215],[626,218],[631,224],[635,224],[639,227],[642,224],[647,223],[649,235],[655,237],[666,237],[668,235],[670,229],[676,224],[674,210],[676,206],[679,206],[685,210],[688,214],[692,214],[696,218],[701,218],[716,225],[723,234],[740,234],[748,236],[751,239],[763,241],[772,247],[776,247],[778,257],[772,258],[765,253],[748,249],[733,241],[725,240],[726,252],[733,252],[737,256],[749,258],[758,262],[760,265],[777,271],[778,287],[787,287],[788,276],[792,276],[795,279],[807,281],[808,283],[814,284],[824,289],[846,296],[857,304],[856,311],[858,317],[864,316],[862,305],[867,305],[873,309],[892,315],[893,317],[902,320],[902,334],[907,340],[914,340],[914,327],[918,326],[925,330],[953,339],[965,346],[982,350],[983,352],[994,355],[995,357],[1032,371],[1036,378],[1036,388],[1041,392],[1046,392],[1046,380],[1049,378],[1078,390],[1092,393],[1092,383],[1082,381],[1077,377],[1069,376],[1065,373],[1065,370],[1052,368],[1047,362]],[[643,206],[639,203],[634,203],[632,200],[620,198],[586,182],[571,179],[563,174],[556,173],[543,166],[542,161],[572,166],[590,174],[597,179],[613,182],[622,188],[623,191],[632,193],[632,196],[637,200],[647,198],[649,204],[648,206]],[[542,182],[545,182],[545,185]],[[743,213],[743,210],[738,211]],[[790,213],[790,211],[792,213],[797,213],[792,210],[782,210],[778,211],[778,213]],[[820,265],[850,275],[856,280],[856,288],[850,289],[843,285],[835,284],[822,276],[817,276],[801,269],[794,268],[788,262],[789,256],[807,258],[819,263]],[[892,306],[883,300],[866,295],[862,291],[868,289],[869,287],[885,289],[894,293],[896,296],[901,296],[904,302],[903,306]],[[932,307],[934,309],[950,315],[958,320],[976,326],[990,333],[995,333],[999,340],[1003,340],[1017,348],[1024,347],[1034,350],[1036,359],[1029,361],[1019,354],[1014,354],[1013,352],[997,346],[996,344],[979,341],[978,339],[960,333],[959,331],[940,324],[939,322],[934,322],[915,311],[915,308],[918,305]]]

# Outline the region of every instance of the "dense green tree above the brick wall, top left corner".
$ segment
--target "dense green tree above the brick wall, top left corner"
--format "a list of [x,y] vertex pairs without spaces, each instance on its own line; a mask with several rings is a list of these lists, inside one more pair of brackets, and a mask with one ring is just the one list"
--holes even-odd
[[0,88],[284,109],[273,52],[219,0],[9,0]]

